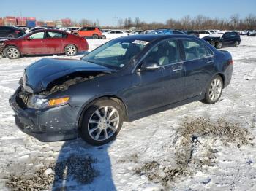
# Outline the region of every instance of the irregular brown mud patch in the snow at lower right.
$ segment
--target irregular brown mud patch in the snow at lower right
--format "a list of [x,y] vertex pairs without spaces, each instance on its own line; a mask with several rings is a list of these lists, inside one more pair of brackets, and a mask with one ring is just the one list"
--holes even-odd
[[197,118],[187,119],[180,128],[174,141],[175,166],[163,166],[158,161],[151,161],[139,168],[135,173],[145,175],[151,182],[162,184],[170,188],[173,182],[181,176],[189,176],[195,171],[203,171],[203,166],[214,166],[216,164],[217,149],[213,148],[215,141],[237,147],[249,144],[254,138],[245,128],[219,119],[216,122]]

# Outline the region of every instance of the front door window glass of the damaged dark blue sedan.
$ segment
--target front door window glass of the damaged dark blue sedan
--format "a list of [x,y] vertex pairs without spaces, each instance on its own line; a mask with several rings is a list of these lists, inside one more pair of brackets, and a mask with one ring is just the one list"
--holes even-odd
[[144,62],[159,63],[164,66],[178,62],[178,44],[175,40],[160,42],[144,59]]

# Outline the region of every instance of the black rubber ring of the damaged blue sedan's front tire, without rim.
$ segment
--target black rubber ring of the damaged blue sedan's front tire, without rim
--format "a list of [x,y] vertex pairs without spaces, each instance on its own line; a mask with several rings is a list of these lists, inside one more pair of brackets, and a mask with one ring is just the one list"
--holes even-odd
[[[119,124],[118,128],[116,129],[116,132],[111,136],[110,138],[104,140],[104,141],[96,141],[91,138],[89,135],[88,130],[88,123],[90,120],[91,115],[95,112],[95,110],[99,109],[102,106],[113,106],[119,114]],[[124,121],[124,111],[120,104],[118,104],[116,101],[113,101],[112,99],[106,98],[106,99],[100,99],[98,101],[94,101],[88,109],[83,114],[83,119],[79,128],[80,137],[86,141],[87,143],[94,145],[94,146],[100,146],[103,144],[107,144],[110,141],[113,141],[113,139],[116,139],[116,136],[118,135],[119,131],[121,130],[121,127],[123,125]]]

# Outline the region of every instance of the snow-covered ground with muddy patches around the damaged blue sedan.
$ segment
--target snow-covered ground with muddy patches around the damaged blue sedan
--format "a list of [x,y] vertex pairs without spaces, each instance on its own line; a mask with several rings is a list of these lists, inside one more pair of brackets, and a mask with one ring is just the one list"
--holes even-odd
[[[89,39],[90,50],[103,42]],[[223,50],[233,55],[233,79],[217,104],[125,123],[102,147],[20,132],[8,98],[42,57],[0,58],[0,190],[256,190],[256,37]]]

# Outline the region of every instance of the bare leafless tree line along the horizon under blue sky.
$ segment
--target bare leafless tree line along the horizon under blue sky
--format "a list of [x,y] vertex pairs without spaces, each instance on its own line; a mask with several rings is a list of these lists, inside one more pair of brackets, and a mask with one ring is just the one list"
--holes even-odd
[[[100,26],[99,20],[92,22],[91,20],[82,19],[79,23],[74,23],[80,26]],[[249,14],[244,18],[239,17],[238,14],[231,15],[227,19],[211,18],[204,15],[197,15],[191,17],[186,15],[181,19],[168,19],[165,23],[151,22],[146,23],[140,20],[139,17],[132,19],[119,18],[114,22],[113,26],[100,26],[102,28],[137,28],[142,30],[156,29],[156,28],[175,28],[178,30],[206,30],[206,29],[220,29],[220,30],[255,30],[256,16]]]

